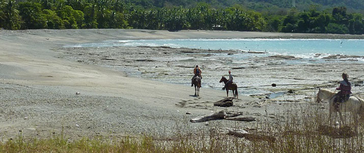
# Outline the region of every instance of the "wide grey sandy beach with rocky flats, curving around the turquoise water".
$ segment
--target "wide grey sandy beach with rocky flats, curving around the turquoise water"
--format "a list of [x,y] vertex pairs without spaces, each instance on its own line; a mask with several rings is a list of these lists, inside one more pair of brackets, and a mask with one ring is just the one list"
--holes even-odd
[[[114,29],[0,30],[0,138],[4,141],[19,134],[44,138],[61,132],[70,139],[118,138],[160,130],[170,133],[177,124],[188,126],[186,129],[213,124],[255,126],[254,122],[227,120],[206,125],[191,123],[189,119],[220,110],[244,112],[243,116],[257,119],[276,118],[279,112],[293,105],[312,105],[319,87],[333,91],[343,71],[350,74],[353,93],[364,97],[364,64],[358,62],[290,65],[279,62],[285,57],[256,57],[228,63],[229,58],[209,60],[208,57],[216,52],[236,54],[231,50],[64,47],[104,40],[191,38],[363,39],[364,36]],[[178,60],[165,60],[173,58]],[[239,95],[233,107],[216,107],[213,103],[226,97],[226,92],[216,90],[222,87],[216,83],[215,87],[201,88],[199,97],[193,96],[194,89],[188,83],[194,65],[201,65],[204,79],[218,82],[227,69],[234,69],[234,77],[246,82],[240,85],[244,90],[286,93],[277,98],[267,98],[264,93]],[[139,77],[131,75],[135,72]],[[176,78],[186,80],[186,85],[163,81]],[[260,80],[259,86],[251,84],[256,80]],[[269,86],[272,83],[277,87]]]

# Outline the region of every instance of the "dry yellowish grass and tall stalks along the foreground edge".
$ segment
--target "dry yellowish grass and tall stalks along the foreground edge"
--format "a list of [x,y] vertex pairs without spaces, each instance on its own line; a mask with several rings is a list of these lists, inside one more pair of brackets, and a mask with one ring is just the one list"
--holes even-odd
[[[294,106],[294,105],[292,105]],[[361,120],[354,132],[350,114],[345,126],[328,125],[327,110],[314,105],[288,108],[274,119],[262,117],[247,135],[230,136],[211,126],[191,130],[181,123],[173,134],[156,133],[117,141],[81,139],[67,142],[63,135],[44,140],[0,143],[0,152],[364,152]],[[214,127],[221,125],[216,122]]]

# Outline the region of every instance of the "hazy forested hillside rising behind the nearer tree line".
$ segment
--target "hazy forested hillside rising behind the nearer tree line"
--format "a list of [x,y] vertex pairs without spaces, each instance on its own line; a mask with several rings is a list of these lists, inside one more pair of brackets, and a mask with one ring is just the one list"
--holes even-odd
[[364,0],[126,0],[135,5],[150,7],[172,7],[182,6],[191,8],[198,3],[207,3],[213,8],[232,7],[235,4],[256,11],[266,11],[275,9],[308,10],[311,5],[320,5],[323,9],[333,7],[346,7],[349,12],[364,13]]

